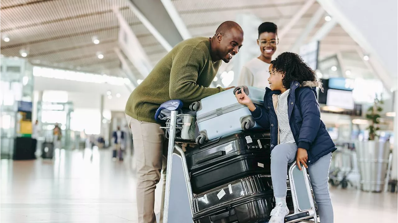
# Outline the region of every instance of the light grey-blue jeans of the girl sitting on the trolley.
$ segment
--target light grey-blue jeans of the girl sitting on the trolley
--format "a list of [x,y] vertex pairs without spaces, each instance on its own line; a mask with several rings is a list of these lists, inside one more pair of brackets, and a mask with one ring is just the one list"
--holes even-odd
[[[274,188],[274,196],[283,198],[286,196],[287,165],[296,160],[297,145],[295,143],[282,143],[275,146],[271,152],[271,178]],[[315,163],[308,165],[312,190],[319,217],[322,223],[333,223],[333,207],[329,194],[329,167],[332,161],[332,153],[324,155]]]

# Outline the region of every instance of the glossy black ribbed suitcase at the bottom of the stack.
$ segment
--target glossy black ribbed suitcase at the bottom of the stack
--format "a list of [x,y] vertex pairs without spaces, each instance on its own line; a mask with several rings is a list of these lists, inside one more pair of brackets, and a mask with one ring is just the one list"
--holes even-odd
[[194,223],[263,222],[274,207],[271,177],[235,180],[193,198]]

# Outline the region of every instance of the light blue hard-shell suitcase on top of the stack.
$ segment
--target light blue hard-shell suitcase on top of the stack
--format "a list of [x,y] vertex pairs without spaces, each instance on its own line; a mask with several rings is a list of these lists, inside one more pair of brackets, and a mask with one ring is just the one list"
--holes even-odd
[[265,89],[248,86],[228,89],[191,104],[191,110],[197,111],[199,136],[196,138],[196,142],[199,145],[233,132],[261,129],[261,126],[254,122],[248,107],[239,104],[236,100],[235,91],[241,89],[244,89],[254,104],[264,105]]

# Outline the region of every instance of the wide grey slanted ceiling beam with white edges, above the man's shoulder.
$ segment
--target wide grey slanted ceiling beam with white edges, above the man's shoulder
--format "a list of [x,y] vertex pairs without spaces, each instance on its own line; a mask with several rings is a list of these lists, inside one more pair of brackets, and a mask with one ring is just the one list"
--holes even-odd
[[126,2],[167,52],[179,42],[190,37],[172,2],[166,0],[126,0]]

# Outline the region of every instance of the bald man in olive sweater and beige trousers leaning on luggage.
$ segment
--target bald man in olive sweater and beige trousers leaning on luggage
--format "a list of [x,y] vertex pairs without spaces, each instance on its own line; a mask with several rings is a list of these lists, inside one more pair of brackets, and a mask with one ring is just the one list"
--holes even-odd
[[[171,99],[184,105],[224,91],[209,87],[221,65],[238,53],[242,28],[233,21],[222,23],[213,37],[195,37],[176,45],[131,93],[125,113],[133,132],[137,159],[137,206],[139,223],[156,223],[154,196],[162,161],[167,156],[164,131],[156,123],[158,107]],[[164,156],[165,155],[165,156]],[[166,164],[163,163],[163,167]],[[164,174],[165,174],[165,168]],[[164,195],[164,192],[163,192]],[[162,199],[163,202],[163,199]],[[163,205],[162,205],[163,207]],[[163,208],[161,208],[162,222]]]

